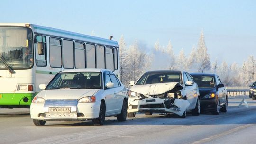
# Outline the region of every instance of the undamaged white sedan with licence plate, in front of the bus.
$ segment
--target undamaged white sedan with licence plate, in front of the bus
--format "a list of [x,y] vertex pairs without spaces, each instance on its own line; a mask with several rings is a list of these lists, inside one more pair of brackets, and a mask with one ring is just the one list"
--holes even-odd
[[36,126],[46,121],[83,121],[103,125],[105,117],[127,117],[128,95],[116,75],[106,69],[76,69],[58,73],[32,100],[30,115]]

